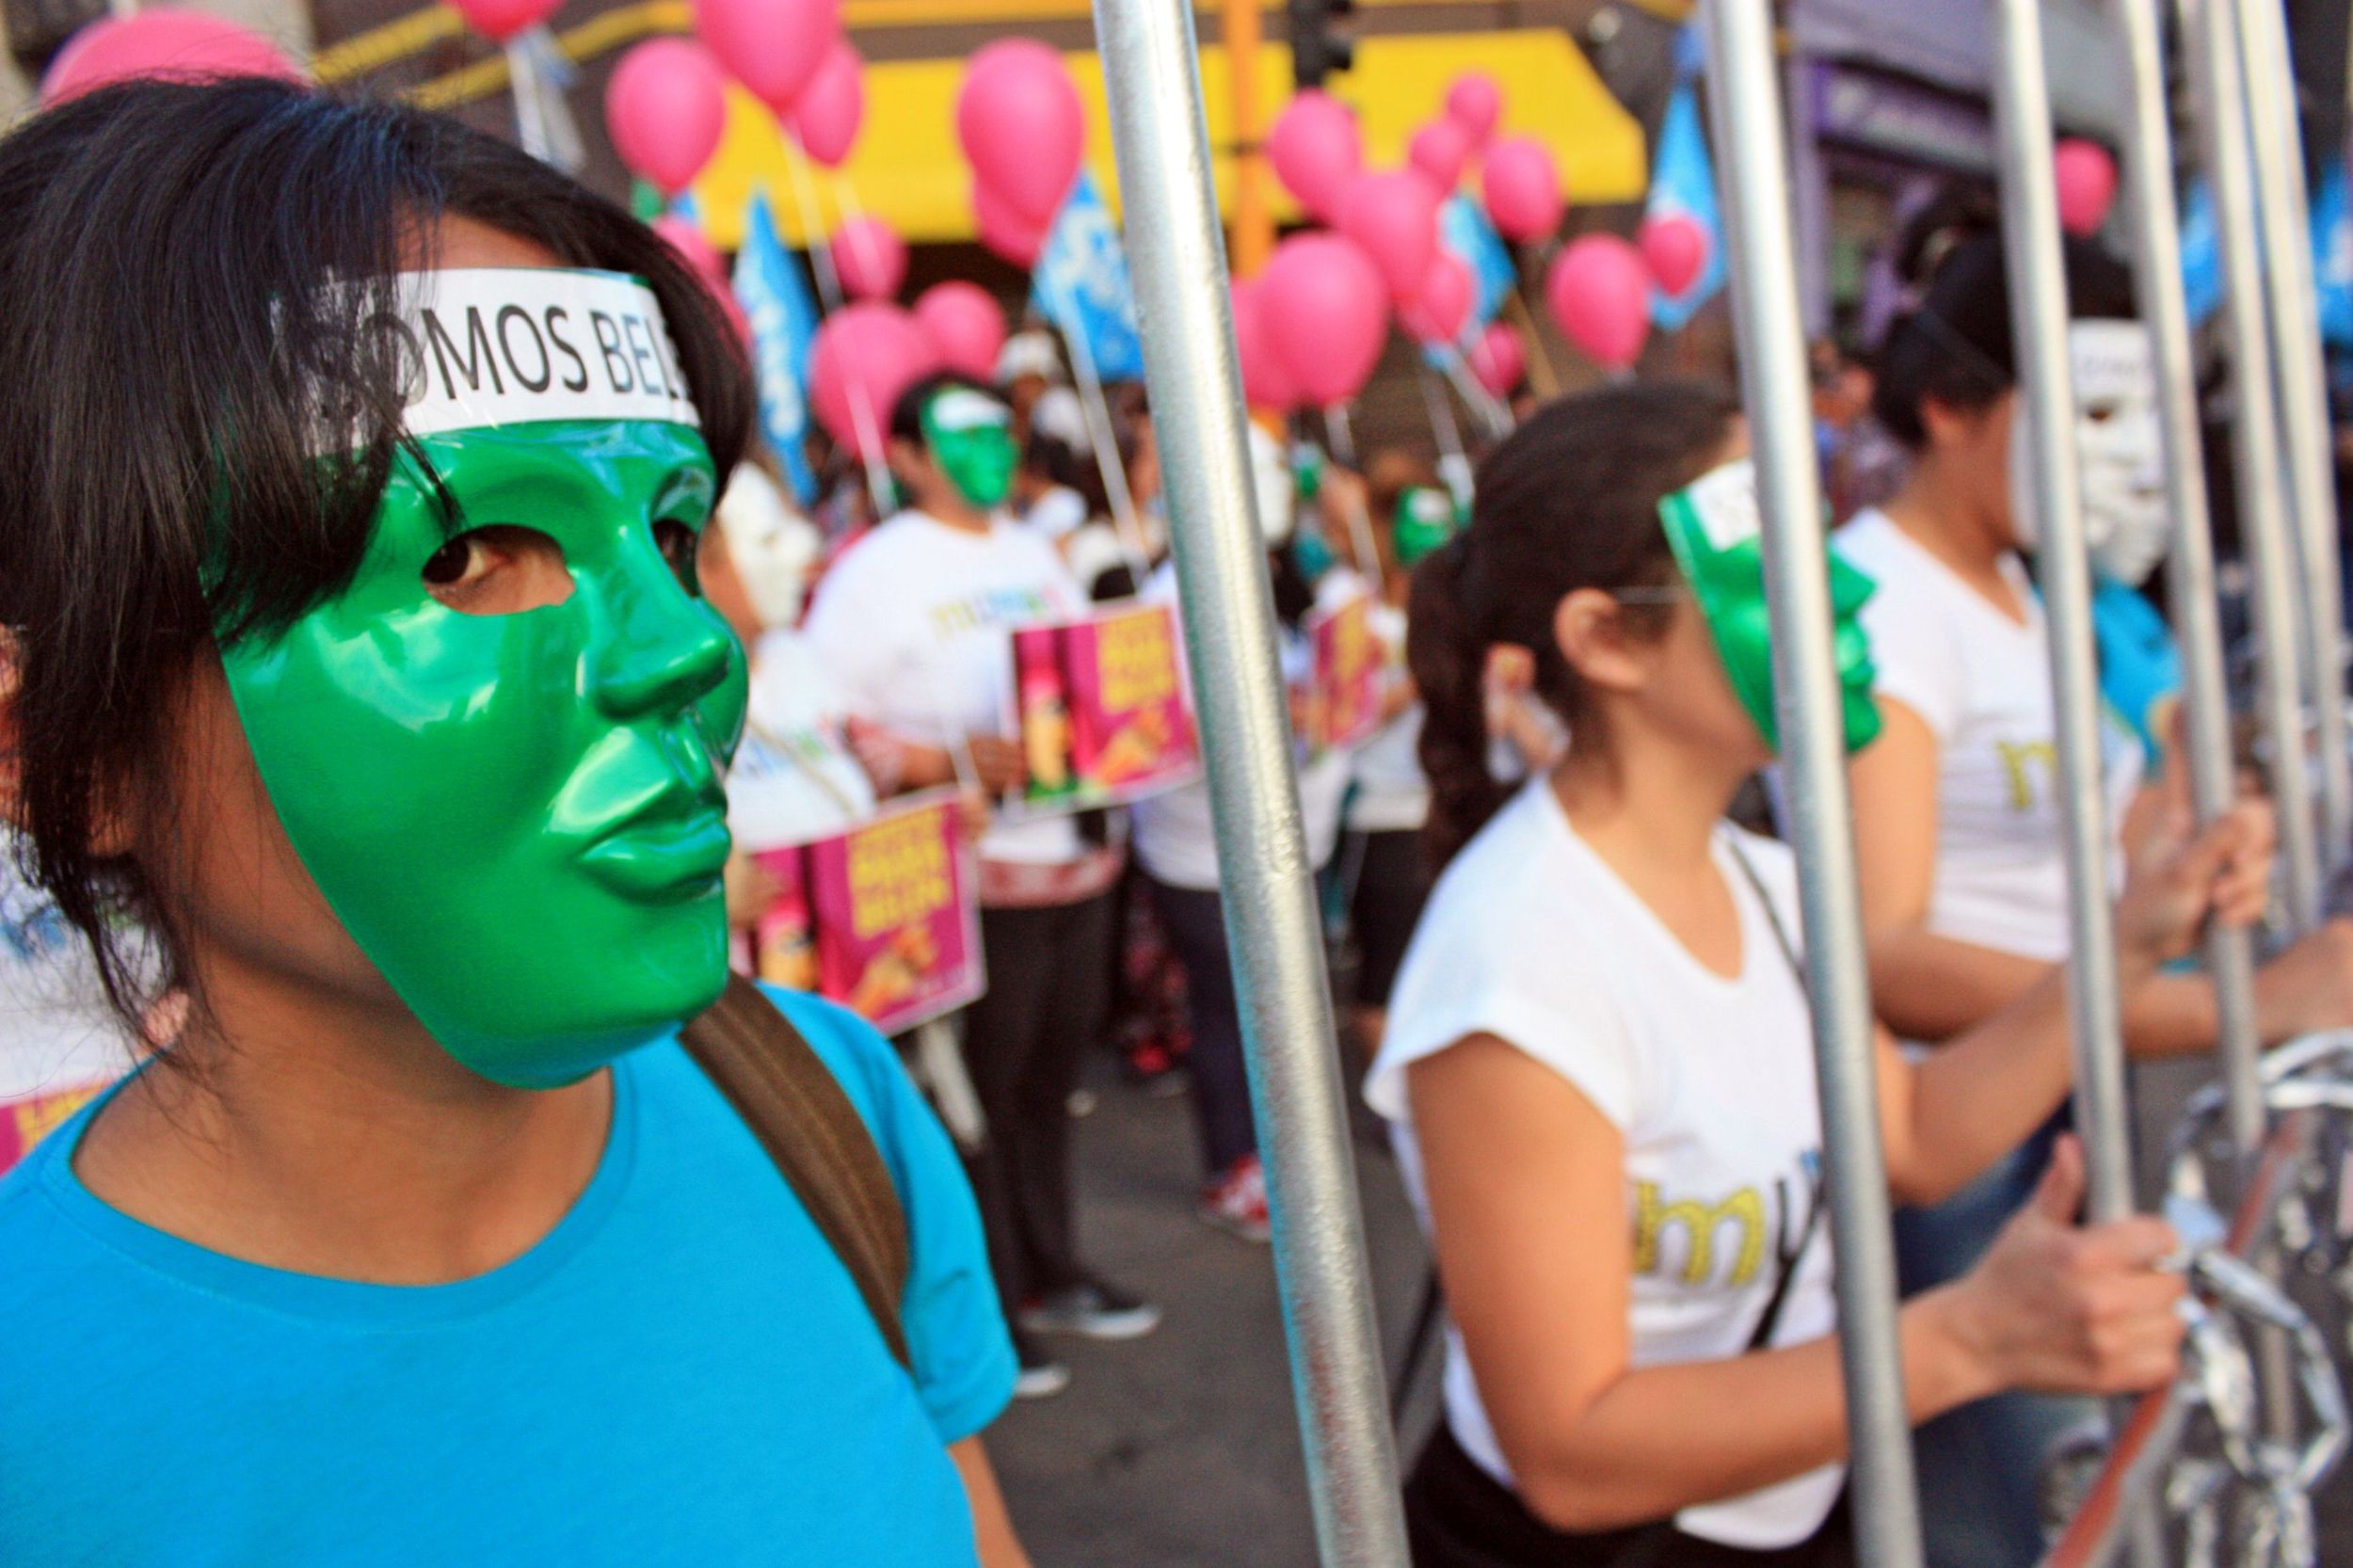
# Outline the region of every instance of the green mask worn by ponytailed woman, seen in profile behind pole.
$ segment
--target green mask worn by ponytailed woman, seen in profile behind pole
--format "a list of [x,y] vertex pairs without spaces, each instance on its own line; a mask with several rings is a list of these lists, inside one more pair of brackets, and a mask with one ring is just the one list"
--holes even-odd
[[[1772,617],[1765,607],[1765,553],[1758,523],[1755,466],[1746,459],[1725,464],[1685,490],[1659,501],[1659,523],[1675,551],[1675,565],[1692,584],[1708,633],[1725,662],[1732,690],[1765,744],[1781,751],[1781,730],[1772,704]],[[1847,751],[1861,751],[1880,735],[1880,709],[1871,697],[1878,671],[1871,666],[1871,638],[1864,633],[1861,607],[1873,582],[1831,551],[1833,650],[1838,655],[1840,720]]]

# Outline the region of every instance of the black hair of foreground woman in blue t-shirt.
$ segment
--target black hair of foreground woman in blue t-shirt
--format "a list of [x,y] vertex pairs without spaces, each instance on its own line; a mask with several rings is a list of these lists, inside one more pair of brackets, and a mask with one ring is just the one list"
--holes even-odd
[[[718,304],[647,226],[515,146],[268,80],[125,82],[0,137],[16,857],[125,1022],[188,977],[169,890],[139,852],[99,855],[99,829],[136,800],[165,831],[188,673],[358,570],[407,440],[395,275],[431,266],[442,217],[645,278],[725,483],[753,398]],[[125,923],[160,937],[160,972]]]

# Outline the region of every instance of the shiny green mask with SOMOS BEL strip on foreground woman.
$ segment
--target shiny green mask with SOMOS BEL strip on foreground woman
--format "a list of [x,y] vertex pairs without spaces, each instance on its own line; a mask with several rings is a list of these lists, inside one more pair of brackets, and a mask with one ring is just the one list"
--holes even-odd
[[[652,294],[609,273],[426,278],[449,344],[468,341],[456,323],[475,306],[511,327],[482,344],[504,386],[461,393],[426,318],[431,386],[407,424],[431,473],[402,454],[351,586],[282,636],[226,647],[224,666],[344,928],[452,1057],[553,1088],[668,1036],[725,984],[720,775],[746,666],[692,567],[656,544],[661,523],[704,527],[715,480]],[[579,351],[558,348],[539,388],[546,360],[506,308]],[[551,398],[574,370],[591,386]],[[551,410],[579,417],[536,417]],[[452,530],[494,523],[562,549],[562,603],[464,614],[426,591]]]

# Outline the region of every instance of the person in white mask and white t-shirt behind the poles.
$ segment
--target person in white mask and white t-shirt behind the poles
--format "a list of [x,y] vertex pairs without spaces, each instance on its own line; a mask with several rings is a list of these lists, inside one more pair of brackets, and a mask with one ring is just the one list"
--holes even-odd
[[[1854,829],[1871,935],[1871,991],[1908,1041],[1937,1045],[1991,1017],[2068,956],[2066,841],[2042,605],[2019,551],[2035,544],[2014,440],[2017,370],[2000,231],[1932,212],[1911,247],[1934,254],[1920,306],[1882,351],[1878,419],[1911,450],[1885,509],[1838,532],[1878,591],[1864,610],[1882,739],[1854,760]],[[2094,563],[2144,574],[2167,527],[2153,351],[2132,278],[2087,240],[2066,247],[2082,398],[2085,525]],[[2144,786],[2144,749],[2108,713],[2108,822],[2118,864],[2134,824],[2186,800],[2184,758]],[[2266,1041],[2353,1024],[2353,925],[2337,921],[2257,977]],[[2134,1055],[2214,1048],[2214,991],[2195,972],[2141,986],[2125,1010]],[[2028,1140],[1937,1210],[1899,1215],[1906,1290],[1958,1276],[2033,1189],[2049,1140]],[[2014,1396],[1920,1434],[1929,1556],[2005,1568],[2040,1552],[2042,1455],[2087,1410]]]

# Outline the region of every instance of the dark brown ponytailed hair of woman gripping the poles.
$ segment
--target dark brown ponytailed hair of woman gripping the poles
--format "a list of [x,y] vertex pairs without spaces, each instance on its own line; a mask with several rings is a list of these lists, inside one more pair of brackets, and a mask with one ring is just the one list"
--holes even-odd
[[[1537,695],[1574,730],[1584,692],[1553,638],[1560,600],[1675,582],[1659,501],[1718,461],[1737,417],[1739,405],[1711,386],[1612,386],[1548,403],[1480,464],[1471,527],[1414,567],[1407,610],[1433,864],[1508,798],[1487,768],[1487,650],[1534,652]],[[1657,605],[1626,614],[1659,633],[1671,619]]]

